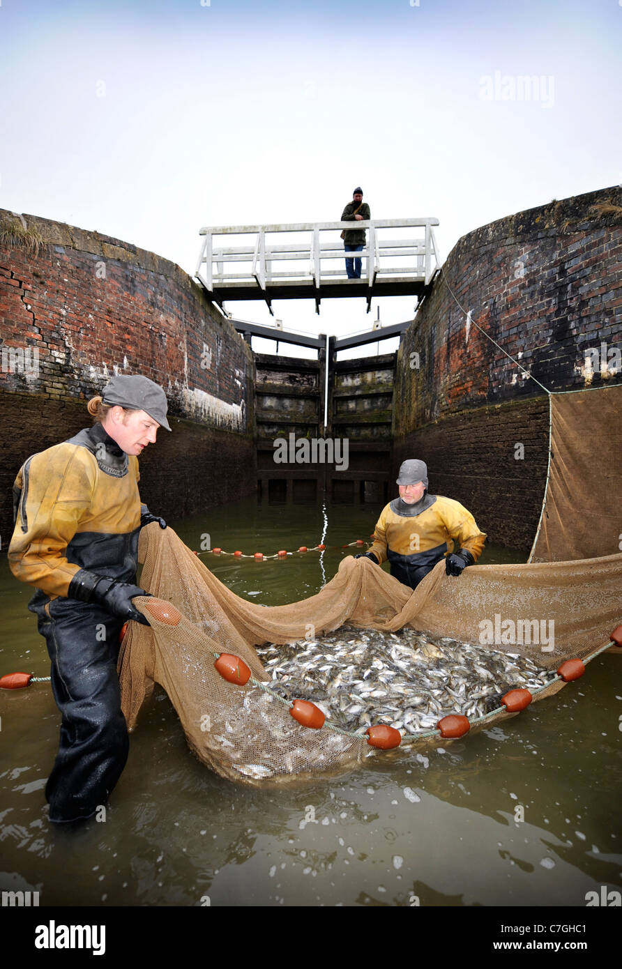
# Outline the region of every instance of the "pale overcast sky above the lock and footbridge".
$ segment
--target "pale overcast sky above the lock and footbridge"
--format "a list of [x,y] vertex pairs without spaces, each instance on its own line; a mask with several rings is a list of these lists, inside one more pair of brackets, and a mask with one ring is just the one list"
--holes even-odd
[[[338,219],[361,185],[372,217],[437,217],[445,259],[622,181],[621,26],[622,0],[0,0],[0,206],[192,275],[202,226]],[[519,100],[525,76],[540,90]],[[363,299],[274,308],[285,328],[371,326]]]

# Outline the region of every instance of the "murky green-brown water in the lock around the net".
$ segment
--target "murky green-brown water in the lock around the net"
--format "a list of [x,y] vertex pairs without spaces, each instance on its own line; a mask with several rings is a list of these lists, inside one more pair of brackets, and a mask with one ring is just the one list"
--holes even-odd
[[[192,548],[209,533],[212,546],[267,554],[318,544],[325,518],[329,546],[367,538],[379,511],[250,501],[176,530]],[[281,605],[317,592],[344,553],[203,560],[237,595]],[[488,548],[482,562],[524,557]],[[3,553],[0,672],[49,673],[29,598]],[[202,766],[157,688],[107,821],[73,833],[47,822],[60,723],[49,684],[3,691],[0,888],[40,891],[41,905],[197,906],[208,896],[213,906],[583,907],[587,891],[622,884],[621,673],[604,655],[502,728],[278,792]]]

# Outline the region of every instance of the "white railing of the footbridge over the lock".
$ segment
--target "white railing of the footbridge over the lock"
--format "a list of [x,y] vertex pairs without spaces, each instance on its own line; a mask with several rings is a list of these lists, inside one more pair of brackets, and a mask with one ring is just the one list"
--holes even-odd
[[[348,258],[364,261],[361,279],[366,280],[370,288],[379,277],[388,281],[423,281],[427,286],[440,267],[433,229],[438,224],[438,219],[423,218],[203,228],[196,277],[210,293],[219,287],[251,284],[259,285],[265,292],[271,285],[296,282],[319,290],[322,283],[348,281],[344,263]],[[383,230],[411,228],[421,229],[421,237],[383,237]],[[360,229],[367,230],[366,245],[360,252],[344,252],[344,243],[335,237],[335,231]],[[327,232],[333,234],[332,239],[321,242],[320,234]],[[295,238],[279,245],[266,238],[277,233],[289,233]],[[214,239],[221,235],[246,235],[250,239],[244,245],[216,248]],[[338,263],[336,267],[335,262]]]

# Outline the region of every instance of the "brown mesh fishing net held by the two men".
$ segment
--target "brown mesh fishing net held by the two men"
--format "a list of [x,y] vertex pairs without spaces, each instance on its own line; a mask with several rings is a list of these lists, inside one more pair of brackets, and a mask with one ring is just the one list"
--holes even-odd
[[[619,407],[622,388],[611,390],[617,391],[617,396],[611,395],[616,401],[611,406]],[[584,391],[590,392],[596,399],[601,397],[600,391]],[[560,420],[553,424],[552,453],[556,460],[561,459],[555,457],[557,454],[571,454],[567,469],[572,466],[572,448],[558,436],[563,435],[565,422],[571,420],[576,407],[582,406],[573,399],[579,395],[560,395],[555,401]],[[592,421],[600,424],[596,402],[587,404],[583,420],[588,412]],[[609,431],[613,427],[612,422]],[[581,431],[585,442],[594,440],[590,426],[584,425]],[[575,434],[576,440],[579,437]],[[611,517],[599,517],[592,500],[594,494],[604,501],[612,500],[613,479],[620,479],[622,449],[618,446],[615,452],[607,444],[607,453],[606,481],[598,488],[583,483],[581,501],[589,503],[580,511],[576,505],[572,510],[575,520],[577,516],[590,516],[590,547],[599,528],[607,533],[614,524]],[[565,456],[564,460],[569,459]],[[579,467],[581,474],[591,474],[594,465],[587,462]],[[544,510],[544,515],[548,510],[548,520],[553,520],[553,508],[562,522],[571,514],[571,506],[563,504],[573,494],[567,484],[563,475],[551,474]],[[618,533],[622,530],[614,527]],[[545,548],[553,542],[548,523],[541,527],[541,535],[543,531]],[[573,547],[580,554],[580,536],[571,532]],[[555,547],[557,551],[563,547],[562,538],[555,539]],[[610,633],[621,618],[620,553],[525,565],[474,565],[460,578],[446,576],[440,562],[414,591],[368,559],[350,556],[342,560],[337,574],[317,595],[275,607],[234,595],[171,528],[163,530],[155,522],[143,528],[139,554],[143,563],[140,583],[155,599],[134,600],[150,626],[130,623],[119,655],[122,706],[128,727],[135,728],[142,703],[154,683],[159,683],[202,763],[224,777],[248,784],[265,783],[266,778],[270,783],[285,782],[293,775],[300,779],[319,770],[354,766],[374,752],[364,735],[347,735],[329,729],[327,724],[316,730],[297,723],[290,703],[266,689],[269,678],[255,649],[262,643],[308,641],[348,623],[385,632],[411,626],[486,648],[482,646],[483,624],[495,630],[490,649],[519,653],[554,672],[569,658],[586,660],[606,649]],[[542,623],[548,631],[554,630],[552,649],[548,640],[543,646],[539,639]],[[531,635],[524,635],[527,626]],[[499,629],[504,630],[501,641]],[[221,653],[242,660],[251,679],[242,684],[223,678],[214,667]],[[562,679],[555,678],[534,695],[534,701],[552,696],[564,685]],[[474,723],[471,732],[515,715],[503,707]],[[404,742],[417,747],[439,740],[438,732],[430,732],[410,736]],[[443,738],[442,742],[452,741]]]

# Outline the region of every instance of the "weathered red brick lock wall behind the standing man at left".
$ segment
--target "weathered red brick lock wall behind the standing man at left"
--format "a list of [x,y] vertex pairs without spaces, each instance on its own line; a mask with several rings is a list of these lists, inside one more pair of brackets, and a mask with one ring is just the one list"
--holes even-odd
[[[252,493],[254,363],[232,324],[168,260],[24,218],[43,236],[38,255],[0,248],[3,540],[22,461],[87,426],[86,400],[117,372],[150,377],[169,399],[173,433],[161,431],[140,461],[145,500],[181,516]],[[16,219],[0,210],[0,227],[11,225]]]

